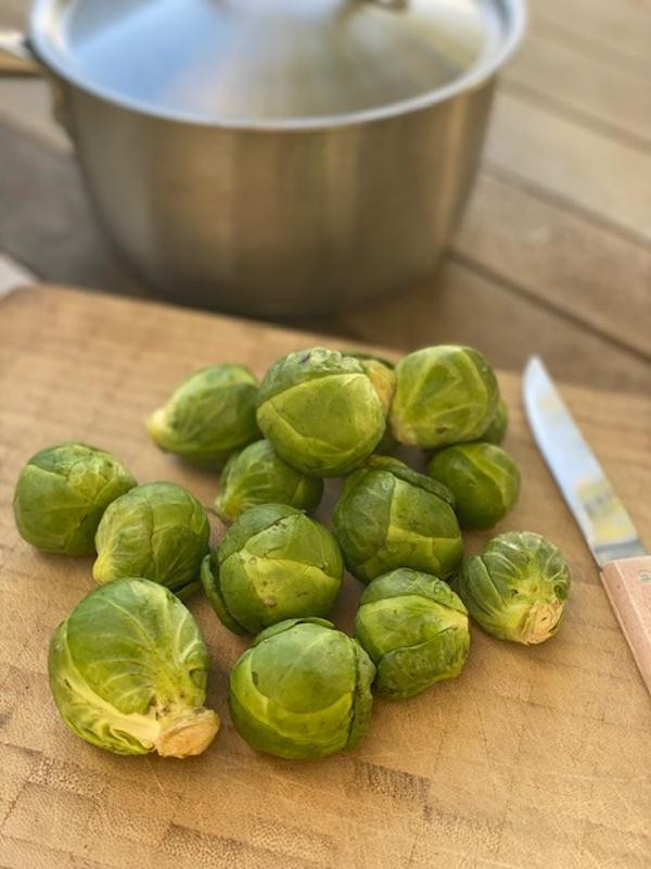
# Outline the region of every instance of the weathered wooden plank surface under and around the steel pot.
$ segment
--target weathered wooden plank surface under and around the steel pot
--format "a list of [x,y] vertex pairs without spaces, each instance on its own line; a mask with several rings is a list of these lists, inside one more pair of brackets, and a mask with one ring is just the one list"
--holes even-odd
[[[27,0],[0,0],[22,26]],[[482,171],[439,273],[321,331],[398,349],[532,350],[553,374],[648,391],[651,0],[529,0]],[[0,81],[0,249],[48,280],[150,295],[107,250],[39,81]]]

